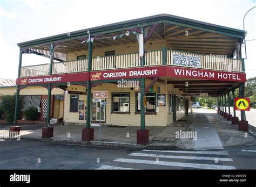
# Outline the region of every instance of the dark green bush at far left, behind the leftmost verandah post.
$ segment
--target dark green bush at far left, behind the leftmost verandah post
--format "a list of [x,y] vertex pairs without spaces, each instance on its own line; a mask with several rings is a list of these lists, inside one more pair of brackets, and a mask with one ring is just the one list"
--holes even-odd
[[[14,121],[16,95],[2,96],[1,108],[4,112],[4,119],[11,123]],[[21,108],[21,99],[18,101],[18,109]]]

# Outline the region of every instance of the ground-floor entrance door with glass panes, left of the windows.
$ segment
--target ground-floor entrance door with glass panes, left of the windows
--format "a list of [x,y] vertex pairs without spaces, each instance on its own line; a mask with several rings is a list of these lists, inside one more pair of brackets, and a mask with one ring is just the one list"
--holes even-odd
[[[102,99],[102,102],[105,102],[105,99]],[[91,107],[91,121],[99,122],[100,119],[100,110],[101,110],[101,122],[105,122],[105,111],[106,105],[100,107],[100,102],[92,102]]]

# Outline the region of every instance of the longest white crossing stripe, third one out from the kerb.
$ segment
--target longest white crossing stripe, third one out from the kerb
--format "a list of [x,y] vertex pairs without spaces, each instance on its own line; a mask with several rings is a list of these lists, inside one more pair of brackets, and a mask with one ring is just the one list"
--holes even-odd
[[198,163],[183,163],[183,162],[165,162],[165,161],[151,161],[151,160],[137,160],[137,159],[116,159],[116,162],[126,163],[142,163],[142,164],[153,164],[161,166],[174,166],[174,167],[189,167],[199,169],[236,169],[233,166],[220,166],[214,164],[198,164]]

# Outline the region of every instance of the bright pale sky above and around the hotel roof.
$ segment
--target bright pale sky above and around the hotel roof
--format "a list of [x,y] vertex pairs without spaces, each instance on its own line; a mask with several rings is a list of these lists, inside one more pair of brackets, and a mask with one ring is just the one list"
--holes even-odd
[[[242,30],[245,13],[255,5],[255,0],[0,0],[0,78],[17,78],[19,60],[17,43],[19,42],[160,13]],[[248,12],[245,17],[246,40],[248,40],[245,60],[247,78],[256,76],[255,18],[256,8]],[[42,56],[23,54],[23,66],[48,62],[49,59]]]

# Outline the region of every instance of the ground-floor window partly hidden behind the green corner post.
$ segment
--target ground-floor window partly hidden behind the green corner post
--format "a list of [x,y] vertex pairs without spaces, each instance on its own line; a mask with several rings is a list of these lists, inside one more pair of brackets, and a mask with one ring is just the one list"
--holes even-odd
[[[137,98],[137,112],[140,112],[140,103],[139,103],[139,98],[140,94],[137,92],[136,93],[136,98]],[[146,111],[145,112],[156,112],[156,93],[154,92],[149,92],[146,93]]]

